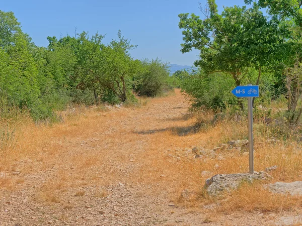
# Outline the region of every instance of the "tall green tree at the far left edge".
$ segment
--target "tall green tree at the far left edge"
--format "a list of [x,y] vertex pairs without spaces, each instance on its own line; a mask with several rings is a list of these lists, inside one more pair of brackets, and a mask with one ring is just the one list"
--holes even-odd
[[32,108],[40,95],[32,44],[12,12],[0,11],[0,90],[10,105]]

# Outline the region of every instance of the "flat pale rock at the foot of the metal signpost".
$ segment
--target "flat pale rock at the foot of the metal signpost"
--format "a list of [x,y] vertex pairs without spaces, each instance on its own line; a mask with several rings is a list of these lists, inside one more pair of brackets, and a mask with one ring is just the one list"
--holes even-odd
[[222,191],[230,192],[239,187],[244,182],[252,183],[254,180],[264,180],[266,175],[261,172],[235,173],[235,174],[216,174],[205,182],[205,188],[210,195],[218,195]]

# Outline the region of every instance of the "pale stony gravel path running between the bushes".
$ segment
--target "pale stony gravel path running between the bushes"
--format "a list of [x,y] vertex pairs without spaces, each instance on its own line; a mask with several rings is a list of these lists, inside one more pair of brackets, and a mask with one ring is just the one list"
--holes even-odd
[[[94,120],[96,127],[99,121],[102,125],[91,132],[81,133],[75,124],[73,129],[73,124],[60,125],[61,131],[64,128],[67,131],[64,136],[45,135],[45,139],[50,139],[48,144],[57,147],[51,161],[48,157],[52,155],[45,147],[41,157],[29,154],[15,161],[14,170],[0,174],[0,182],[17,181],[11,189],[0,187],[0,225],[282,225],[291,222],[288,217],[293,217],[292,213],[286,212],[224,215],[212,212],[210,206],[186,208],[177,204],[179,194],[171,188],[179,186],[177,181],[169,183],[171,187],[167,188],[165,183],[147,182],[145,176],[139,177],[142,159],[148,156],[147,147],[160,139],[155,134],[177,126],[174,131],[183,139],[191,131],[187,109],[188,103],[177,90],[176,95],[153,99],[142,108],[115,107],[88,113],[86,120]],[[94,159],[102,162],[97,164]]]

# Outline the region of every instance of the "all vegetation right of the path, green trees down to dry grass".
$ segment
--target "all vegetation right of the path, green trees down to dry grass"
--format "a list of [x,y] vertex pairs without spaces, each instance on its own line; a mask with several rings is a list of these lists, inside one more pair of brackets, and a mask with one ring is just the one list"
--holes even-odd
[[[246,0],[245,4],[218,12],[215,1],[208,0],[200,5],[201,16],[179,15],[181,51],[200,50],[200,58],[194,63],[197,71],[177,71],[173,77],[190,102],[197,131],[211,133],[208,143],[217,139],[217,146],[248,138],[247,100],[235,97],[231,90],[249,83],[259,85],[259,97],[253,100],[256,170],[277,166],[278,170],[270,172],[271,183],[300,180],[302,4],[286,0]],[[247,147],[240,147],[238,153],[218,150],[225,160],[217,162],[218,170],[206,160],[208,171],[248,172],[248,165],[243,166]],[[197,203],[214,203],[224,212],[292,211],[301,201],[298,196],[272,194],[263,182],[244,183],[214,198],[201,188],[195,198]],[[180,201],[196,204],[184,199]]]

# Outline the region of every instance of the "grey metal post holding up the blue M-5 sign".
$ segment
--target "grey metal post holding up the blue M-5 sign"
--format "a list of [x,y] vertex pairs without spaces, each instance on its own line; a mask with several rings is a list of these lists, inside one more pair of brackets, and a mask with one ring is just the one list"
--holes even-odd
[[[252,84],[248,84],[252,85]],[[250,173],[254,173],[254,141],[253,141],[253,97],[248,97],[248,121],[249,121],[249,166]]]

